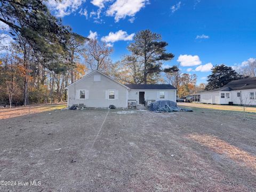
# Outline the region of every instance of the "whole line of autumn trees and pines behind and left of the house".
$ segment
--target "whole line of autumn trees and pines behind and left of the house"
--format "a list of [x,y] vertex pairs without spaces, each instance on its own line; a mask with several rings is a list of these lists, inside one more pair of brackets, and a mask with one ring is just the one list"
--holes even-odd
[[195,75],[180,73],[178,66],[162,68],[174,55],[160,34],[139,31],[127,47],[130,54],[113,63],[113,47],[73,33],[42,1],[1,0],[0,6],[0,22],[13,38],[11,46],[1,47],[2,105],[64,101],[65,87],[95,69],[121,83],[170,83],[180,97],[197,89]]

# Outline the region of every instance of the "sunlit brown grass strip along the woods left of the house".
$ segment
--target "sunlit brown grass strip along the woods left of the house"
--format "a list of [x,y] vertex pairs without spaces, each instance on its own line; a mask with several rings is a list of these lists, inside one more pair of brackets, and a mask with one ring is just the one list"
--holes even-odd
[[0,109],[0,119],[19,117],[23,115],[41,113],[44,111],[63,109],[65,107],[67,107],[66,103],[57,103],[55,105],[37,105],[37,106],[17,107],[17,108],[11,108],[11,109]]

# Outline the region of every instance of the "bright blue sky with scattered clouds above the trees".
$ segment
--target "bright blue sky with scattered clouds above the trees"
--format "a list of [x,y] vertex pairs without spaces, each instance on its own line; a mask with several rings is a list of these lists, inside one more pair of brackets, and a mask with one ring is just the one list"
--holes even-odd
[[139,30],[161,34],[175,55],[164,66],[179,64],[198,76],[197,83],[205,82],[211,66],[256,58],[255,0],[50,0],[49,7],[74,32],[104,37],[114,46],[113,61],[129,54]]

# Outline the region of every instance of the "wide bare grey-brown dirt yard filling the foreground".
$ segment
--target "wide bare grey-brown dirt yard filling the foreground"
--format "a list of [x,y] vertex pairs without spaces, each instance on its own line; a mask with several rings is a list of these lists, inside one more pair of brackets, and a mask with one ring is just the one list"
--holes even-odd
[[0,119],[0,191],[256,191],[256,114],[193,109]]

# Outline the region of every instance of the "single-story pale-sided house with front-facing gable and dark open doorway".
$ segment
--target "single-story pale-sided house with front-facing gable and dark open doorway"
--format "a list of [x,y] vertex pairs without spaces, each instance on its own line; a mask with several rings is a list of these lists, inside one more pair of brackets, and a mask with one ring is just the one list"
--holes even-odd
[[99,70],[85,75],[66,87],[68,107],[84,104],[85,107],[127,108],[129,101],[136,105],[156,100],[176,102],[177,89],[167,84],[124,85]]

